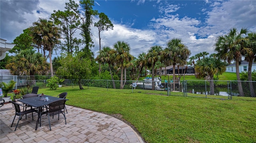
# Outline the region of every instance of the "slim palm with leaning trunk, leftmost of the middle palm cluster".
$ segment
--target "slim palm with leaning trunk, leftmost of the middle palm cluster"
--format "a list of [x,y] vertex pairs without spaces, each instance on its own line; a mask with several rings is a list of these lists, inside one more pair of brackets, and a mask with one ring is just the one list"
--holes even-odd
[[111,59],[111,48],[110,47],[103,47],[103,49],[100,51],[100,54],[96,57],[96,61],[98,61],[99,63],[107,63],[108,67],[109,67],[109,72],[112,78],[112,82],[113,82],[113,88],[116,89],[116,84],[114,82],[114,78],[112,75],[112,70],[111,70],[111,65],[112,65],[112,61],[113,59]]

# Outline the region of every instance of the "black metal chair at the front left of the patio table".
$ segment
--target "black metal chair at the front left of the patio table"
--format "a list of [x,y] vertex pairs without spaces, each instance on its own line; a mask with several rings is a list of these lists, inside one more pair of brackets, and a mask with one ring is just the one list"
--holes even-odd
[[[20,104],[18,104],[18,103],[16,103],[16,102],[13,102],[13,101],[10,101],[10,102],[13,104],[13,106],[14,106],[14,108],[15,108],[15,116],[14,116],[14,119],[15,119],[16,115],[19,116],[18,123],[19,123],[19,121],[20,121],[20,119],[22,118],[23,115],[26,115],[26,114],[29,114],[29,113],[32,113],[32,120],[34,120],[33,112],[37,112],[37,110],[31,108],[30,110],[20,111],[20,106],[21,106]],[[13,119],[13,121],[12,121],[12,125],[13,125],[14,119]],[[14,131],[16,131],[16,128],[17,128],[17,126],[18,126],[18,123],[17,123],[17,125],[16,125]],[[11,125],[11,127],[12,127],[12,125]]]

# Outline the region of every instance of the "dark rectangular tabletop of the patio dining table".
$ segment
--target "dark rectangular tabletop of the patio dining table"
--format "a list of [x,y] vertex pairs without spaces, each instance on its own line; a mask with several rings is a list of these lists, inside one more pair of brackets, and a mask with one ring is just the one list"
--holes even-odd
[[[45,106],[50,104],[51,102],[57,101],[57,100],[63,100],[64,98],[59,98],[59,97],[54,97],[54,96],[48,96],[46,95],[46,97],[49,98],[48,101],[44,101],[44,100],[39,100],[40,97],[32,97],[32,98],[25,98],[25,99],[19,99],[19,102],[22,102],[24,104],[27,104],[29,106],[33,106],[33,107],[41,107],[41,106]],[[68,99],[64,99],[64,100],[68,100]]]

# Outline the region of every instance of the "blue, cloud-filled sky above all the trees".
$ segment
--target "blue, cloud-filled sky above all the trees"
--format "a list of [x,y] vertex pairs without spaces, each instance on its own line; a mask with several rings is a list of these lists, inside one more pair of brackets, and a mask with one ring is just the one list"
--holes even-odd
[[[0,38],[12,43],[39,18],[63,11],[66,0],[0,0]],[[79,3],[78,0],[75,0]],[[117,41],[130,45],[134,57],[150,47],[166,48],[168,40],[180,38],[194,56],[212,54],[214,43],[232,27],[256,31],[256,0],[94,0],[94,10],[103,12],[114,29],[102,31],[101,47]],[[94,18],[98,22],[98,18]],[[92,27],[95,57],[99,51],[98,29]],[[81,38],[79,32],[76,37]],[[54,53],[53,57],[60,54]]]

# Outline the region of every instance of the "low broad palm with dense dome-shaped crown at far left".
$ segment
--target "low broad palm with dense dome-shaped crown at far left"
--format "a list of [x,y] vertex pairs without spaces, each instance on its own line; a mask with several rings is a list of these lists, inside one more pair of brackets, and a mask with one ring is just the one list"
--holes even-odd
[[42,54],[26,49],[12,57],[6,68],[10,69],[13,75],[30,76],[30,80],[35,80],[35,75],[48,74],[49,63],[42,57]]

